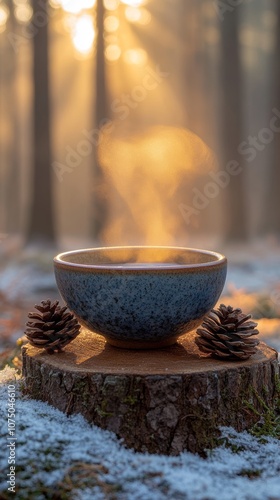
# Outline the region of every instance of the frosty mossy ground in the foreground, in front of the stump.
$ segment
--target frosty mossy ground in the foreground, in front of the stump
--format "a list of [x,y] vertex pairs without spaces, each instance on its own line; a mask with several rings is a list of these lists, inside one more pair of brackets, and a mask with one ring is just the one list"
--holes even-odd
[[[203,459],[127,450],[81,416],[66,417],[20,393],[14,371],[0,372],[1,449],[7,445],[8,384],[16,384],[17,499],[277,500],[280,441],[223,429],[224,444]],[[10,381],[9,380],[14,380]],[[1,453],[0,498],[7,492],[8,451]]]

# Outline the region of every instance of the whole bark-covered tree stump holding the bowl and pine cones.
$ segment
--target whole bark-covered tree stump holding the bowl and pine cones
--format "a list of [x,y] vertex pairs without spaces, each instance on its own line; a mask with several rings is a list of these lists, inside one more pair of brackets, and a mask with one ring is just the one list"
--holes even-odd
[[137,451],[203,453],[219,426],[242,431],[258,420],[248,404],[271,406],[277,353],[264,343],[247,361],[225,362],[198,351],[195,333],[168,348],[126,350],[82,328],[64,352],[23,347],[25,391],[123,438]]

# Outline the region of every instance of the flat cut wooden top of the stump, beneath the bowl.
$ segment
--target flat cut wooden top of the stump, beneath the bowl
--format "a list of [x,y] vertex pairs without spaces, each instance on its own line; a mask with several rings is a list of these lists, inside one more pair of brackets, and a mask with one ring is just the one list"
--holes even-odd
[[258,352],[247,361],[224,361],[201,353],[196,333],[180,337],[176,344],[162,349],[129,350],[112,347],[100,335],[82,327],[80,335],[61,353],[48,354],[27,344],[26,355],[54,369],[106,375],[179,375],[219,371],[259,365],[277,358],[274,349],[260,342]]

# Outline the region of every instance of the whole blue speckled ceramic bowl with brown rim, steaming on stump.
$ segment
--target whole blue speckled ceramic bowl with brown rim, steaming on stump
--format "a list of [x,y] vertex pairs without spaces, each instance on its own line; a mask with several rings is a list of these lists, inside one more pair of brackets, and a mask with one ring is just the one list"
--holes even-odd
[[108,247],[54,259],[59,291],[79,322],[117,347],[164,347],[216,304],[227,261],[176,247]]

